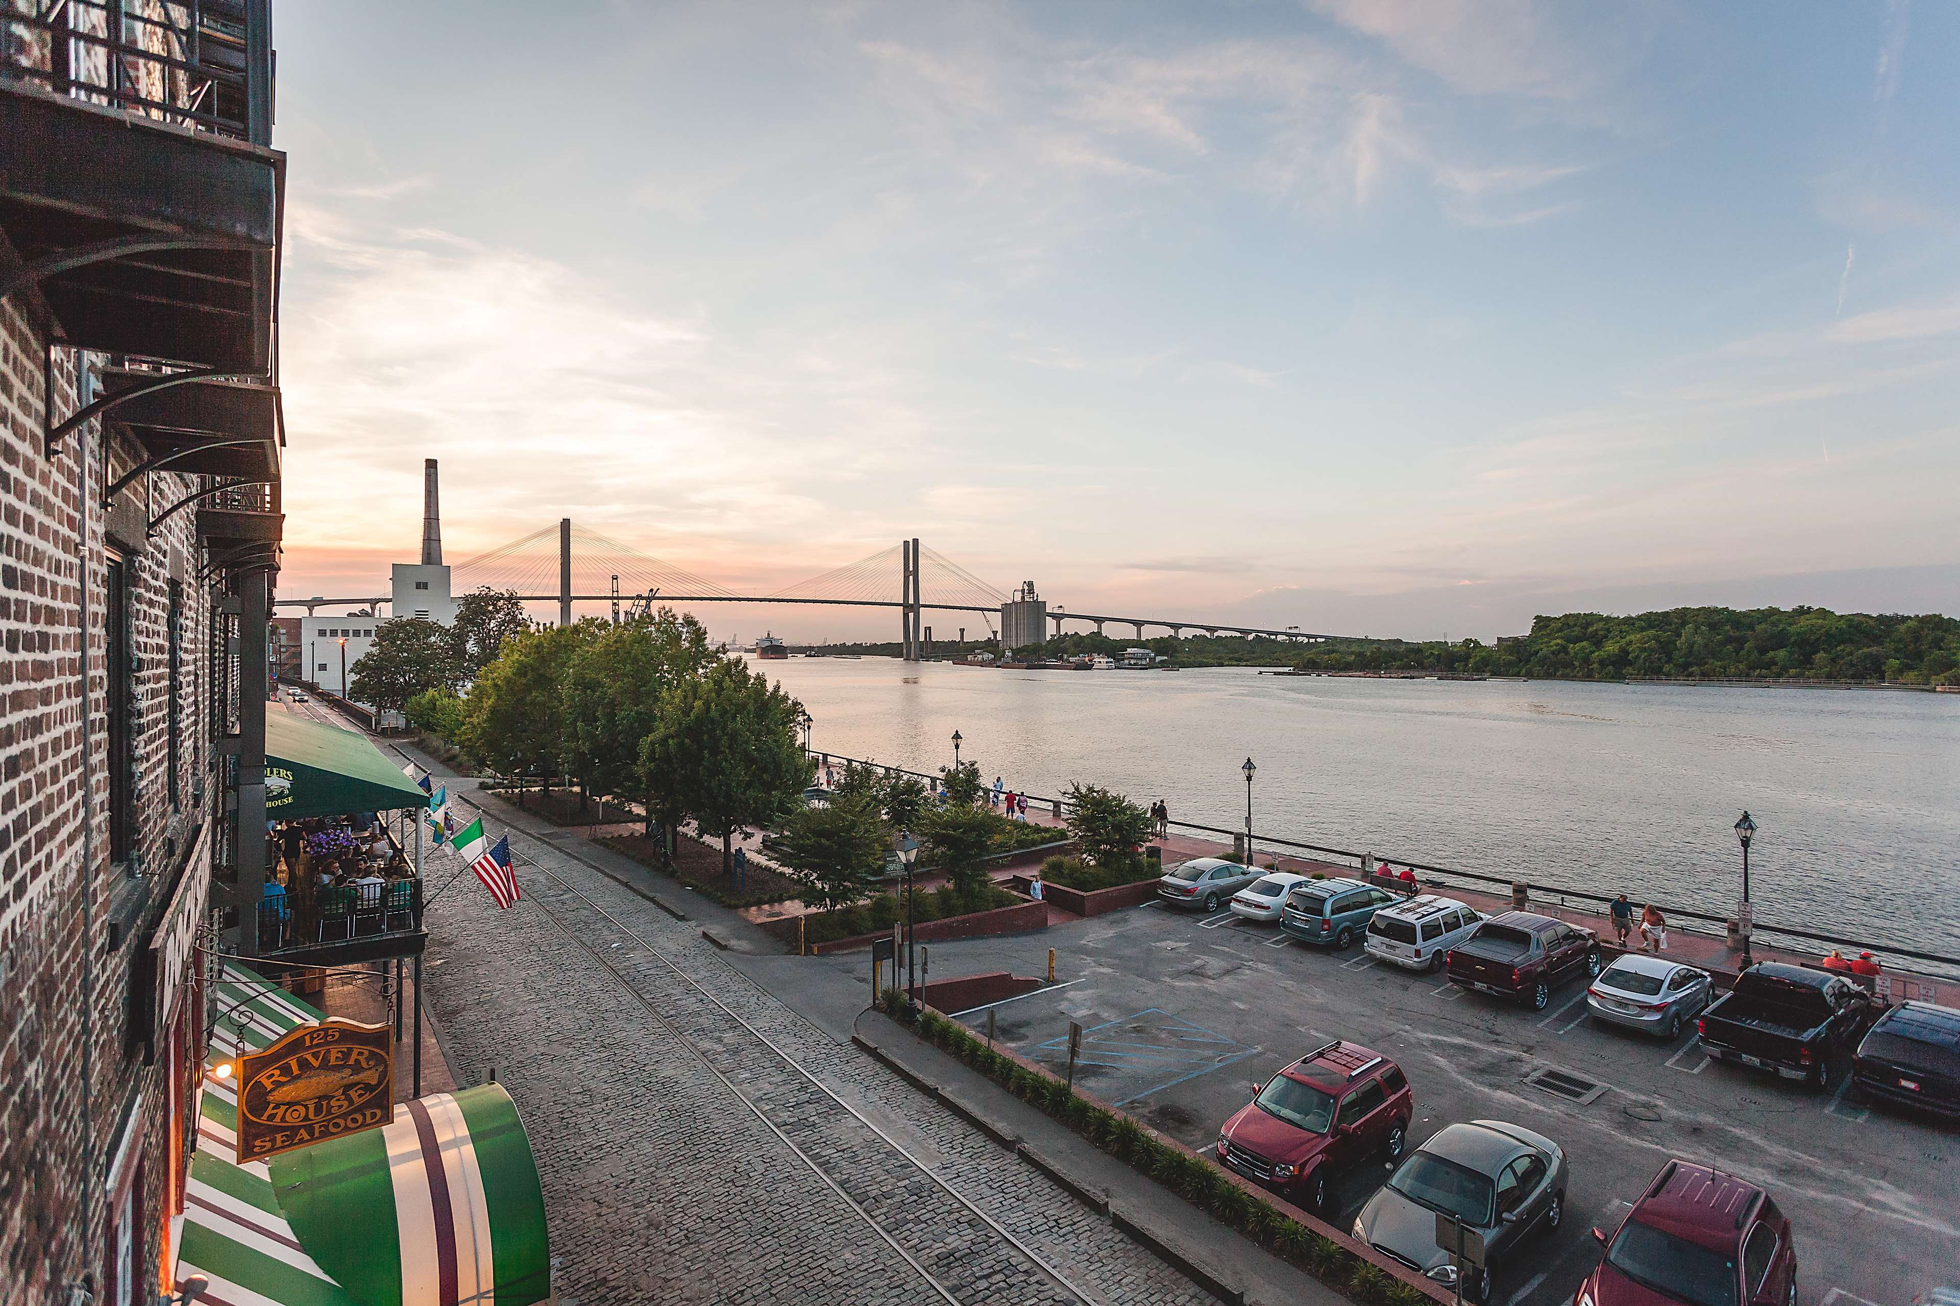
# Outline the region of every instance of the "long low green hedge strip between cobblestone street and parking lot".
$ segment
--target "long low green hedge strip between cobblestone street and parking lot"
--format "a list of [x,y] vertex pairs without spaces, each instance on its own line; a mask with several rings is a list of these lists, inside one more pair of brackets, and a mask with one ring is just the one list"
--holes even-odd
[[[884,1008],[896,1016],[904,1014],[906,997],[898,989],[886,989]],[[917,1020],[919,1034],[943,1051],[958,1057],[1029,1106],[1060,1120],[1117,1161],[1149,1175],[1194,1206],[1209,1210],[1272,1255],[1347,1292],[1352,1300],[1364,1306],[1429,1306],[1433,1302],[1419,1288],[1260,1200],[1258,1194],[1237,1185],[1211,1161],[1152,1138],[1121,1112],[1072,1095],[1060,1079],[994,1051],[956,1020],[947,1020],[933,1010],[921,1010]]]

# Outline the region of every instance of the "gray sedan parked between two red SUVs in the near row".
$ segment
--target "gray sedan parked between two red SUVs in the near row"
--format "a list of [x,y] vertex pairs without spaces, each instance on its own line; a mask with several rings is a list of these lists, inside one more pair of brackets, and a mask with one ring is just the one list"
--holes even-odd
[[1354,1237],[1441,1284],[1456,1267],[1437,1245],[1437,1214],[1484,1236],[1484,1269],[1464,1275],[1468,1302],[1490,1300],[1490,1271],[1529,1234],[1566,1218],[1566,1149],[1519,1124],[1452,1124],[1411,1151],[1354,1218]]

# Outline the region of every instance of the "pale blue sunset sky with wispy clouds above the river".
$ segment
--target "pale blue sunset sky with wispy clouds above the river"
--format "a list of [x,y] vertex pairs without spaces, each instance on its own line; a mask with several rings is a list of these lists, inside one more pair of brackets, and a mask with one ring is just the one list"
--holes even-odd
[[380,593],[433,456],[449,562],[739,593],[1960,613],[1960,6],[549,12],[274,12],[282,597]]

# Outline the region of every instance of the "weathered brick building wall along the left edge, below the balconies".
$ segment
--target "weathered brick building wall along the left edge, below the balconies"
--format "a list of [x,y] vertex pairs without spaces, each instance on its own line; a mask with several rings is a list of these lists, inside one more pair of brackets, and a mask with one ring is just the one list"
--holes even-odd
[[[149,930],[182,877],[206,871],[214,809],[208,728],[210,595],[194,513],[147,523],[200,478],[149,474],[108,509],[102,490],[141,450],[90,423],[43,452],[45,335],[0,305],[0,1275],[6,1300],[151,1300],[169,1206],[165,1114],[188,1100],[182,1057],[139,1040],[155,1001]],[[55,350],[57,419],[86,401]],[[82,458],[86,488],[82,493]],[[90,695],[82,726],[80,562],[86,531]],[[110,566],[122,554],[127,658],[110,679]],[[125,848],[110,805],[112,697],[127,711]],[[86,738],[86,779],[84,779]],[[84,820],[88,822],[84,830]],[[86,848],[86,854],[84,854]],[[127,852],[120,862],[112,852]],[[186,1016],[188,1024],[196,1016]],[[180,1112],[182,1118],[182,1112]],[[180,1120],[178,1120],[180,1124]],[[125,1243],[116,1218],[129,1212]],[[127,1251],[123,1251],[123,1245]],[[16,1296],[18,1294],[18,1296]]]

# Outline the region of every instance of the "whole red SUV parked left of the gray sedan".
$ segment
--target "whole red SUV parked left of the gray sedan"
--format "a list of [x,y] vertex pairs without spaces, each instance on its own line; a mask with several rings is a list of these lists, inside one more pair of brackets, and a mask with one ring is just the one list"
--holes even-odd
[[1331,1179],[1372,1155],[1401,1157],[1415,1095],[1401,1067],[1358,1044],[1299,1057],[1219,1130],[1219,1161],[1313,1212]]

